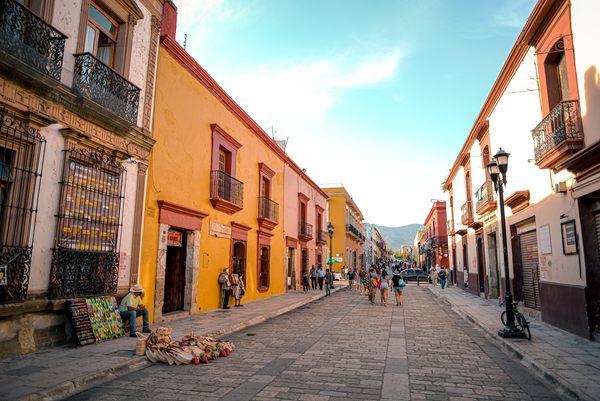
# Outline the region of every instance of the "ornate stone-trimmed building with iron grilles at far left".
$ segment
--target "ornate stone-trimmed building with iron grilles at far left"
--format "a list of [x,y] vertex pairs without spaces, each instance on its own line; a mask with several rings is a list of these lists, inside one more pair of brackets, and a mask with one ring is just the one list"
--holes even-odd
[[158,0],[0,0],[0,358],[135,282]]

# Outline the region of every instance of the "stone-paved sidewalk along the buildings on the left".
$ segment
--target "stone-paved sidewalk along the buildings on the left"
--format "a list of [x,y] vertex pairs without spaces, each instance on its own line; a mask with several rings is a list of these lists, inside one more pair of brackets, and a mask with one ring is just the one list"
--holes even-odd
[[[333,291],[347,286],[336,282]],[[179,338],[196,335],[223,335],[281,315],[325,295],[325,291],[293,291],[247,302],[243,308],[213,310],[169,322]],[[135,338],[129,336],[77,348],[66,345],[0,361],[0,400],[54,400],[81,391],[84,387],[112,380],[132,369],[146,366],[145,356],[135,355]]]

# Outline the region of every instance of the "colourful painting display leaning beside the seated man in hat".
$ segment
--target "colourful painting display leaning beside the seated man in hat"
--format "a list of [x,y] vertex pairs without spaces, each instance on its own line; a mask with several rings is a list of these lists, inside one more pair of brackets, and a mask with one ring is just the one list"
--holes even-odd
[[125,335],[114,297],[68,301],[77,345],[96,344]]

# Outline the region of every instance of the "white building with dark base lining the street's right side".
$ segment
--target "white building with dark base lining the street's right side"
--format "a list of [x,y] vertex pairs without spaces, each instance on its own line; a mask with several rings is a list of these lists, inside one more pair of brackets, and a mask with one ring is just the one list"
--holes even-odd
[[[510,286],[525,313],[600,334],[598,4],[539,0],[456,157],[448,194],[450,265],[486,298]],[[506,233],[486,165],[510,154]]]

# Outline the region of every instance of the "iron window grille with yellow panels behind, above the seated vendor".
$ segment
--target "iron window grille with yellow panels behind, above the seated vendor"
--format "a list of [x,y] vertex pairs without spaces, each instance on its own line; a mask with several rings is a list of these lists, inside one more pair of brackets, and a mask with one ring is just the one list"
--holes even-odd
[[116,294],[126,177],[103,149],[65,150],[48,298]]

